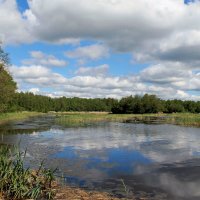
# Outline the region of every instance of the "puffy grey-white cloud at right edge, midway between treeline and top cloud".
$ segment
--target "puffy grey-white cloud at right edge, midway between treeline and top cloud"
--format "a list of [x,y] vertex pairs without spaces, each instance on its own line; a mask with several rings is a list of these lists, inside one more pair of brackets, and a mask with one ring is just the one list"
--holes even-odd
[[152,65],[140,72],[142,81],[152,84],[168,85],[178,90],[200,90],[200,76],[187,65],[167,62]]

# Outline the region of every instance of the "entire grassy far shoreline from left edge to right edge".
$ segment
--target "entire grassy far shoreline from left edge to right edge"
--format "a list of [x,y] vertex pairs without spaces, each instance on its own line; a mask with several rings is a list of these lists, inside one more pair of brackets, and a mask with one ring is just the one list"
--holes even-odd
[[30,117],[53,115],[56,123],[64,127],[88,126],[100,122],[162,123],[187,127],[200,127],[200,114],[154,113],[154,114],[112,114],[108,112],[14,112],[0,113],[0,125],[28,119]]

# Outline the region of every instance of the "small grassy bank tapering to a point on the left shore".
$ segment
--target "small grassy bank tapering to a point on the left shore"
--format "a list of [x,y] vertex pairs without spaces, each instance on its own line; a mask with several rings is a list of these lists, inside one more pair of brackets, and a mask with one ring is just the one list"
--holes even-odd
[[27,119],[29,117],[43,115],[39,112],[14,112],[14,113],[0,113],[0,124],[4,124],[10,121]]

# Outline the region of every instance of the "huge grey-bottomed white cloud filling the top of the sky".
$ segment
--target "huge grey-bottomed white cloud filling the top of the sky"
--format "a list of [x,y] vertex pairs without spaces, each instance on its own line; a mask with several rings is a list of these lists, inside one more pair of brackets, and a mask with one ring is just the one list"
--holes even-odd
[[[140,0],[137,4],[131,0],[32,0],[29,6],[27,19],[35,16],[38,23],[33,32],[38,38],[97,39],[119,51],[159,45],[161,40],[166,43],[180,32],[187,36],[188,30],[199,34],[200,28],[196,23],[200,5],[186,6],[182,0]],[[52,13],[59,14],[52,17]],[[184,41],[182,37],[179,42]]]

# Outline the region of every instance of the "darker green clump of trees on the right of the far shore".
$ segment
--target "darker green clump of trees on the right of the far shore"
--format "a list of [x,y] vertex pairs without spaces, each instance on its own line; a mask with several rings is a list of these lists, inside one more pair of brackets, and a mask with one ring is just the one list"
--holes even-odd
[[156,95],[145,94],[144,96],[129,96],[115,102],[112,113],[177,113],[177,112],[200,112],[200,102],[182,100],[161,100]]

